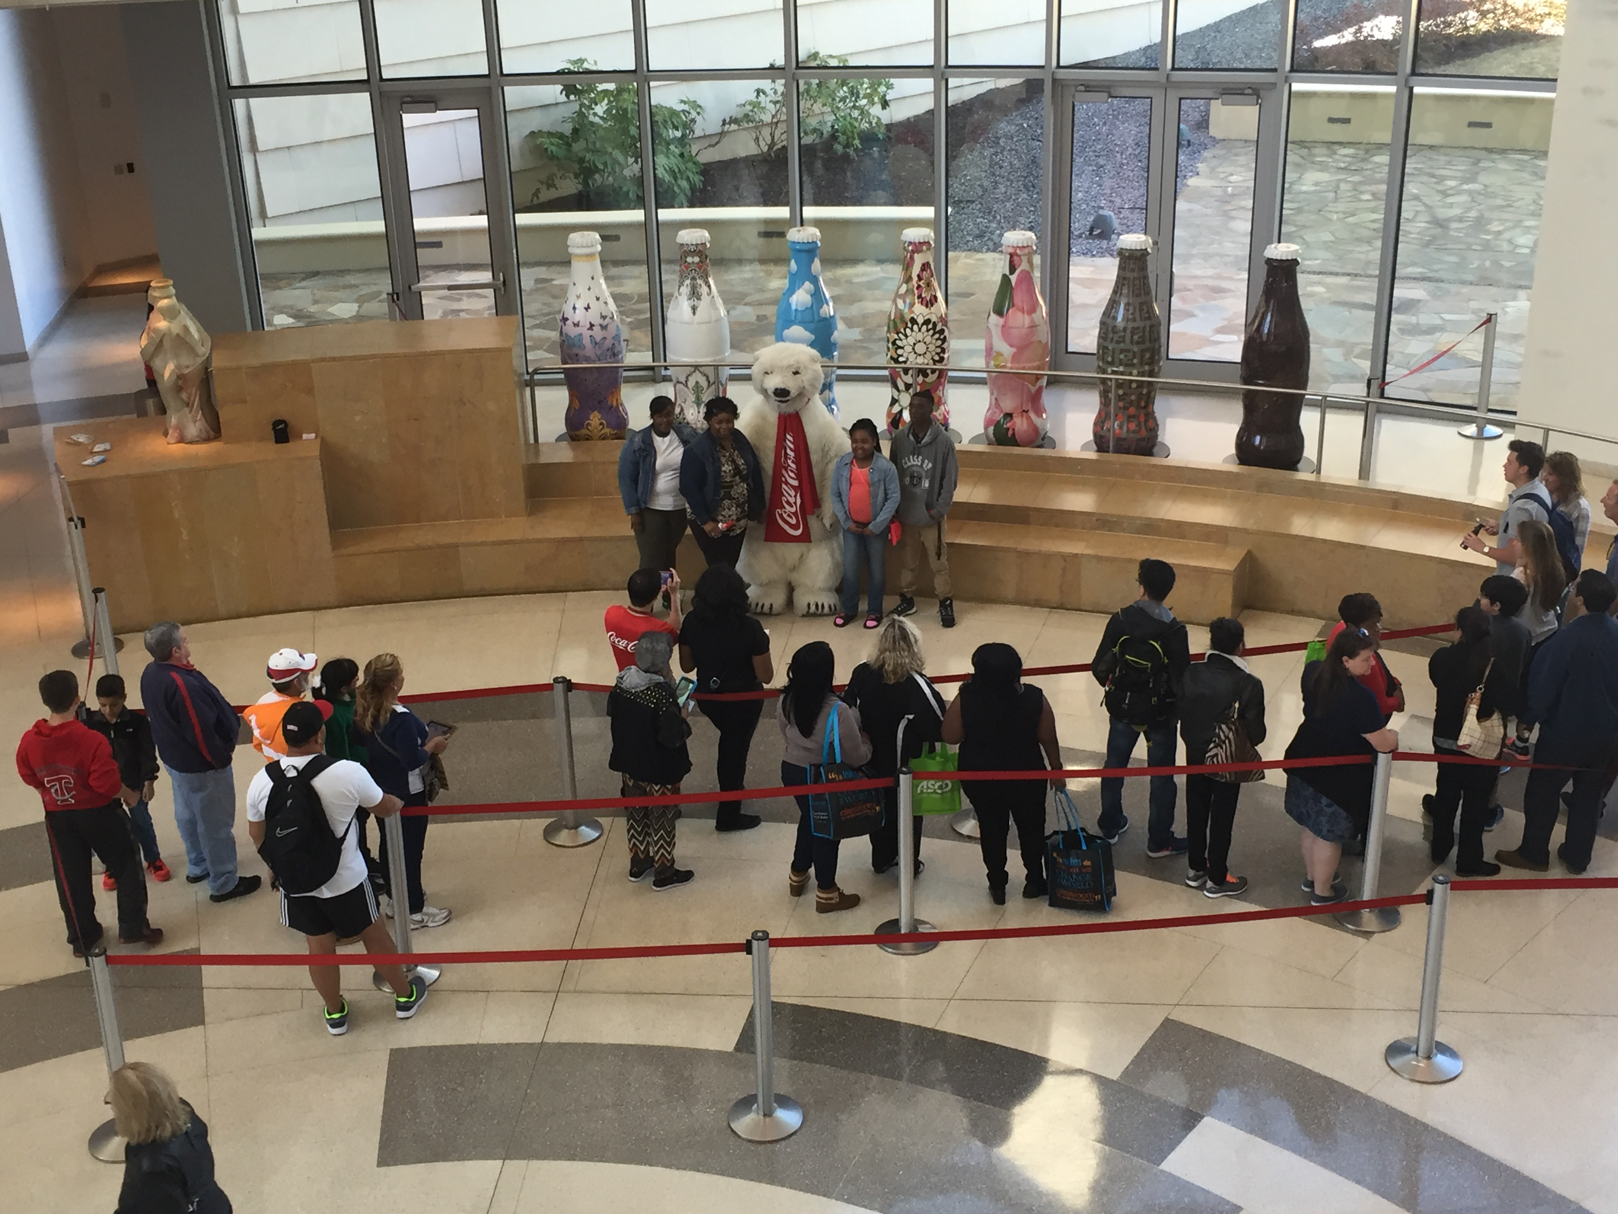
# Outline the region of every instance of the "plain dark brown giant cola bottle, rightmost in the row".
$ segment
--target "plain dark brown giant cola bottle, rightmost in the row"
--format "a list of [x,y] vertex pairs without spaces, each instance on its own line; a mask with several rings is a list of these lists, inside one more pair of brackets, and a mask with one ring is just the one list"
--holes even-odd
[[1241,340],[1241,427],[1236,461],[1256,468],[1296,468],[1304,458],[1298,418],[1304,398],[1267,387],[1309,387],[1309,322],[1298,299],[1298,246],[1264,249],[1264,293]]

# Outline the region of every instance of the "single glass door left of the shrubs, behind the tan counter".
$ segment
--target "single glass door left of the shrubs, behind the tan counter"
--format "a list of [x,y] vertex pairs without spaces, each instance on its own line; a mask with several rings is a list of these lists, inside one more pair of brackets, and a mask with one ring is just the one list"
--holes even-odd
[[[490,194],[500,123],[487,92],[385,97],[388,235],[398,311],[411,320],[518,311],[511,207]],[[498,176],[497,176],[498,181]]]

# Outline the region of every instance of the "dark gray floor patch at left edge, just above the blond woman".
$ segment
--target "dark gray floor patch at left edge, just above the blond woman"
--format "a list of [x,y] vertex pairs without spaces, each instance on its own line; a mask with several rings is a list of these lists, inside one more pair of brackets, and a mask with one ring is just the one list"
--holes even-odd
[[[115,966],[112,983],[125,1041],[202,1023],[202,971],[194,965]],[[99,1046],[87,970],[0,991],[0,1072]]]

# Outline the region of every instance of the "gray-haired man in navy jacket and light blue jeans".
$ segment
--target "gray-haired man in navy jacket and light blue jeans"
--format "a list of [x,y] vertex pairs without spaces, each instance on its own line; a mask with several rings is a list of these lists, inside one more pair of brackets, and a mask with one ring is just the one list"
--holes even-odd
[[175,827],[186,845],[186,881],[205,881],[212,902],[252,894],[264,877],[236,872],[236,780],[230,756],[241,719],[191,665],[186,630],[173,620],[146,630],[150,664],[141,672],[141,704],[152,724],[157,758],[168,769]]

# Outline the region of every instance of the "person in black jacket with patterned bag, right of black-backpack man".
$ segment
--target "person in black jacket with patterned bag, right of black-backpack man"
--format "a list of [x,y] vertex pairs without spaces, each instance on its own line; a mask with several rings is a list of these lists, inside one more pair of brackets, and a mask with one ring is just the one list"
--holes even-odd
[[[1264,741],[1264,683],[1241,660],[1247,635],[1239,620],[1220,617],[1209,625],[1209,652],[1186,670],[1180,688],[1180,736],[1186,740],[1186,764],[1209,761],[1214,733],[1231,709],[1247,741]],[[1230,898],[1247,890],[1246,877],[1226,869],[1231,826],[1241,783],[1217,775],[1186,777],[1186,884],[1209,898]]]

